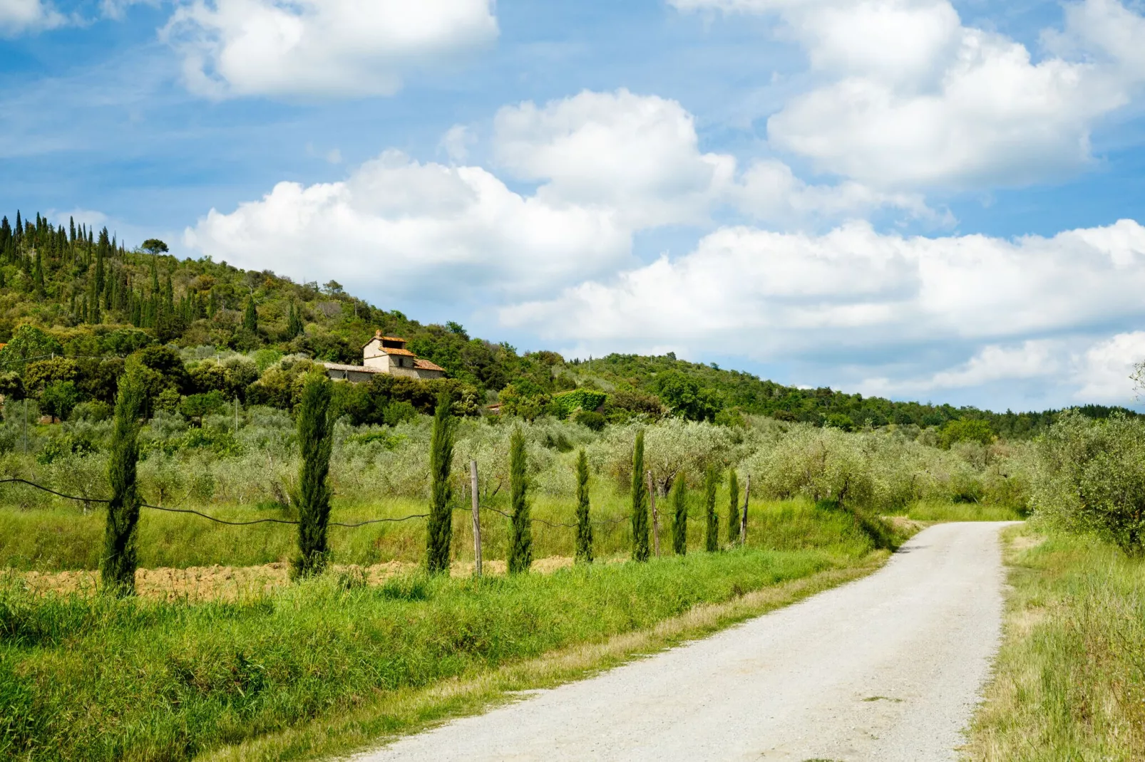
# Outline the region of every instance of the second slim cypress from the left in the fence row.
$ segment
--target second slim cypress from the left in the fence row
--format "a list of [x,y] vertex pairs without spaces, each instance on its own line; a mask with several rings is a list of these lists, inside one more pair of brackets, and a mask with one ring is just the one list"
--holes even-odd
[[330,549],[326,525],[330,523],[330,449],[333,443],[330,420],[330,379],[313,374],[302,387],[298,408],[298,443],[302,466],[298,474],[298,550],[295,577],[321,574]]

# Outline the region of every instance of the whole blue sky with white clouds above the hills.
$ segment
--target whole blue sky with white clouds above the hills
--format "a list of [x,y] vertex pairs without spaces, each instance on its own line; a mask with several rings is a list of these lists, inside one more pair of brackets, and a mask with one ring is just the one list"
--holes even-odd
[[566,357],[1138,406],[1145,3],[0,0],[0,212]]

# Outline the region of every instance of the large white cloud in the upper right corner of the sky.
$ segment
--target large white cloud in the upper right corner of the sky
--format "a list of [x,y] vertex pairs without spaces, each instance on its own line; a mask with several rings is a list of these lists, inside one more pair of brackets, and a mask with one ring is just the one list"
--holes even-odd
[[673,5],[782,19],[826,81],[768,119],[772,144],[879,188],[1021,185],[1075,172],[1091,159],[1093,126],[1145,80],[1145,22],[1115,0],[1071,5],[1065,29],[1047,33],[1061,55],[1041,61],[963,25],[948,0]]

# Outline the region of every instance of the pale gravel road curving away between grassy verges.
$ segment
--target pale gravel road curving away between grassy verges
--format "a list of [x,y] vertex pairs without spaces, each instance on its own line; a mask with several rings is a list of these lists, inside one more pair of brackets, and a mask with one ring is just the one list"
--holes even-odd
[[932,526],[861,580],[357,759],[956,760],[1000,637],[1002,526]]

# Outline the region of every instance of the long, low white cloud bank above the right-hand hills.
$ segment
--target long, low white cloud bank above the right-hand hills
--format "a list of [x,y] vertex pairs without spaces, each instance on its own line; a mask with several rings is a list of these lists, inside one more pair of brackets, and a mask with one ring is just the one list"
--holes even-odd
[[506,325],[590,347],[674,342],[790,359],[943,341],[1002,343],[1140,319],[1145,228],[1122,220],[1052,238],[824,235],[726,228],[692,253],[506,307]]

